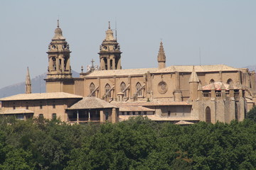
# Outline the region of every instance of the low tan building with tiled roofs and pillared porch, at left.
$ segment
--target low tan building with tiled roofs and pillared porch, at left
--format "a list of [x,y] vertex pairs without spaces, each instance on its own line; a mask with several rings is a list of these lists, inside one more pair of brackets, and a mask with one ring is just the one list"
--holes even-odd
[[[118,121],[118,108],[100,98],[83,98],[64,92],[18,94],[1,98],[0,115],[28,118],[59,118],[69,123]],[[86,104],[85,104],[86,103]]]

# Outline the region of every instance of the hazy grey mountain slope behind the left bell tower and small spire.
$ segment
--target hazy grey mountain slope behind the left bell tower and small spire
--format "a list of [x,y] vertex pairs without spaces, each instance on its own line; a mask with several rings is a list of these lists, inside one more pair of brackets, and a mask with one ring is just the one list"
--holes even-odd
[[[80,74],[78,72],[75,72],[72,70],[72,76],[73,77],[80,77]],[[33,79],[31,79],[32,84],[32,93],[45,93],[46,92],[46,81],[43,79],[46,79],[47,74],[41,74]],[[10,86],[5,86],[0,89],[0,98],[4,98],[7,96],[13,96],[15,94],[23,94],[25,93],[25,81],[13,84]]]

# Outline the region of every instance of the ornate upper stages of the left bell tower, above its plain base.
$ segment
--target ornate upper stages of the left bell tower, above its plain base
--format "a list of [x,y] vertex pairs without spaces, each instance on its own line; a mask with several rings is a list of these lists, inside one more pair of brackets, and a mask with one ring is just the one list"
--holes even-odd
[[48,46],[48,79],[72,78],[70,68],[70,50],[68,42],[63,37],[59,26],[55,29],[55,35]]

